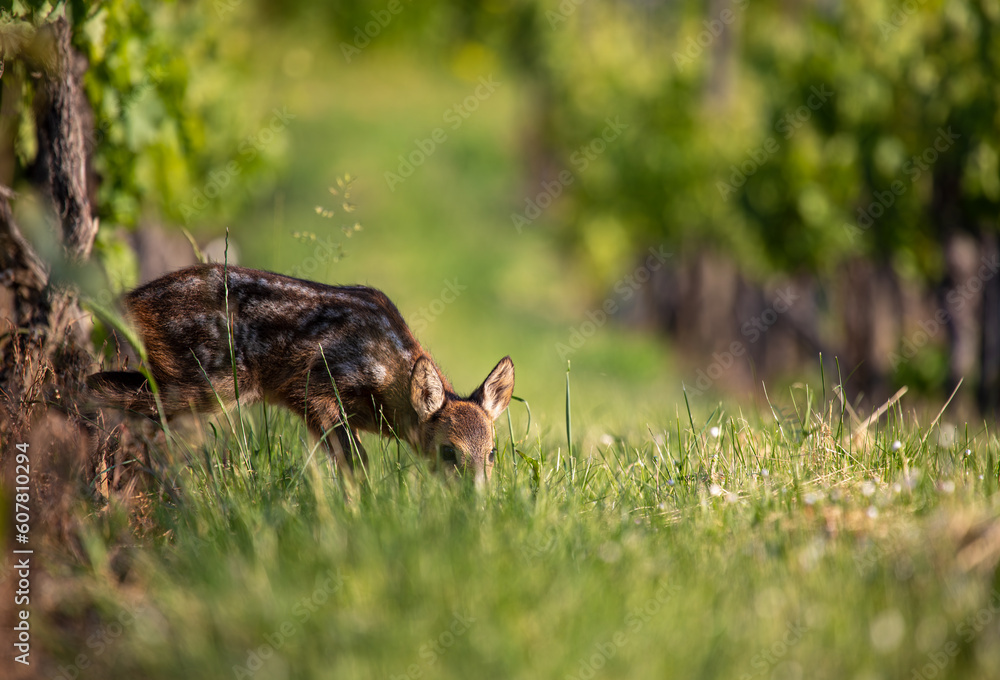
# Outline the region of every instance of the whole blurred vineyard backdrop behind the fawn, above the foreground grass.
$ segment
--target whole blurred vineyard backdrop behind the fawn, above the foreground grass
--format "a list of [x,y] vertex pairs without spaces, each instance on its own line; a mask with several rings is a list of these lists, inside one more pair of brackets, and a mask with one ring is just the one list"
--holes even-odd
[[[1000,404],[996,0],[70,4],[98,297],[228,229],[384,289],[459,390],[511,354],[543,427],[567,361],[592,436],[682,385]],[[3,85],[25,190],[32,78]]]

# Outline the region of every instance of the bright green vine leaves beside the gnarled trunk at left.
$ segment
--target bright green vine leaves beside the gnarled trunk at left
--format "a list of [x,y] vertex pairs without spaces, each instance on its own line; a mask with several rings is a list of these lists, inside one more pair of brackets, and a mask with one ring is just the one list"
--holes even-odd
[[[252,13],[223,17],[212,3],[198,2],[15,2],[4,12],[4,34],[33,33],[63,14],[88,60],[84,86],[94,122],[85,135],[102,222],[186,223],[245,204],[260,188],[261,171],[281,154],[280,144],[258,138],[274,114],[254,96],[260,85],[246,59]],[[5,41],[9,62],[17,56],[11,48]],[[32,74],[16,60],[12,68],[23,84],[11,109],[21,118],[16,182],[30,175],[36,149]]]

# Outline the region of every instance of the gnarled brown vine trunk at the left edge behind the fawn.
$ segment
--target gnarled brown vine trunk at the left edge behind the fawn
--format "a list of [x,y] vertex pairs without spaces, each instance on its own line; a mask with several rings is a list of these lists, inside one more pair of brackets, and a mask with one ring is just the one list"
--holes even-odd
[[[41,63],[30,64],[42,74],[35,102],[36,164],[44,168],[41,188],[59,217],[67,255],[85,260],[97,234],[86,185],[82,121],[90,114],[81,87],[85,62],[73,51],[65,18],[41,28],[35,40],[36,49],[23,54],[42,55]],[[0,430],[23,437],[39,407],[57,404],[70,409],[66,400],[87,370],[90,347],[79,323],[85,315],[75,296],[50,285],[45,265],[18,228],[12,199],[10,189],[0,188],[0,278],[5,283],[0,306]]]

